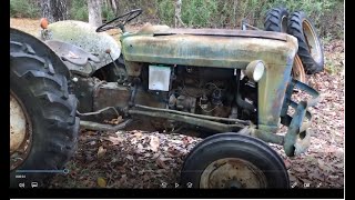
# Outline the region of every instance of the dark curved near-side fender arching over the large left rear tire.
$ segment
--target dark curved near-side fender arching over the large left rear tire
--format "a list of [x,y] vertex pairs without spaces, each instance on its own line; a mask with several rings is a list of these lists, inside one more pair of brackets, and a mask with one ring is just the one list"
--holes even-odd
[[37,56],[41,58],[50,59],[52,67],[59,73],[65,76],[67,80],[70,80],[70,71],[62,60],[51,50],[45,43],[43,43],[38,38],[20,31],[14,28],[10,28],[10,41],[28,44],[31,48],[36,49]]

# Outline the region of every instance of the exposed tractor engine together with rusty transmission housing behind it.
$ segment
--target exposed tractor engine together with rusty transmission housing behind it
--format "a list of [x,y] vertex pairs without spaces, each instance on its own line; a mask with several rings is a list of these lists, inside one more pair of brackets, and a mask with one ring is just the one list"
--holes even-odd
[[102,77],[79,78],[79,111],[140,104],[256,123],[257,87],[240,69],[145,64],[139,77],[123,77],[125,81],[118,77],[116,82]]

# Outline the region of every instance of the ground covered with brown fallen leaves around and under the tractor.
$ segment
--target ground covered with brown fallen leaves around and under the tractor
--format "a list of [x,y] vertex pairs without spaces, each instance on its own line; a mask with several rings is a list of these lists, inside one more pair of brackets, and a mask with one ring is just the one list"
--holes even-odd
[[[10,19],[11,27],[39,33],[39,20]],[[343,188],[345,139],[344,41],[324,42],[325,70],[308,76],[321,93],[314,114],[312,144],[307,152],[284,159],[293,188]],[[67,164],[68,174],[57,174],[51,188],[160,188],[179,182],[189,151],[200,138],[140,130],[99,132],[81,130],[78,151]]]

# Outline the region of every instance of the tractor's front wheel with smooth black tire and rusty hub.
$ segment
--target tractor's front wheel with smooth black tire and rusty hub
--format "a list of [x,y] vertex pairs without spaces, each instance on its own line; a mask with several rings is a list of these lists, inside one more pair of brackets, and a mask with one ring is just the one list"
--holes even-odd
[[260,139],[239,133],[206,138],[187,156],[181,184],[194,188],[288,188],[283,160]]

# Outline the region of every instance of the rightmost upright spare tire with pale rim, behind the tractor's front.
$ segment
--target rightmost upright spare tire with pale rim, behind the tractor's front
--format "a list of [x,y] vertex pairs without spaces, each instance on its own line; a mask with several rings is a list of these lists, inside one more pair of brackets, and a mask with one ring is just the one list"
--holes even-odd
[[324,52],[320,37],[313,22],[302,11],[294,12],[288,20],[288,34],[298,40],[298,52],[307,74],[321,72],[324,69]]

